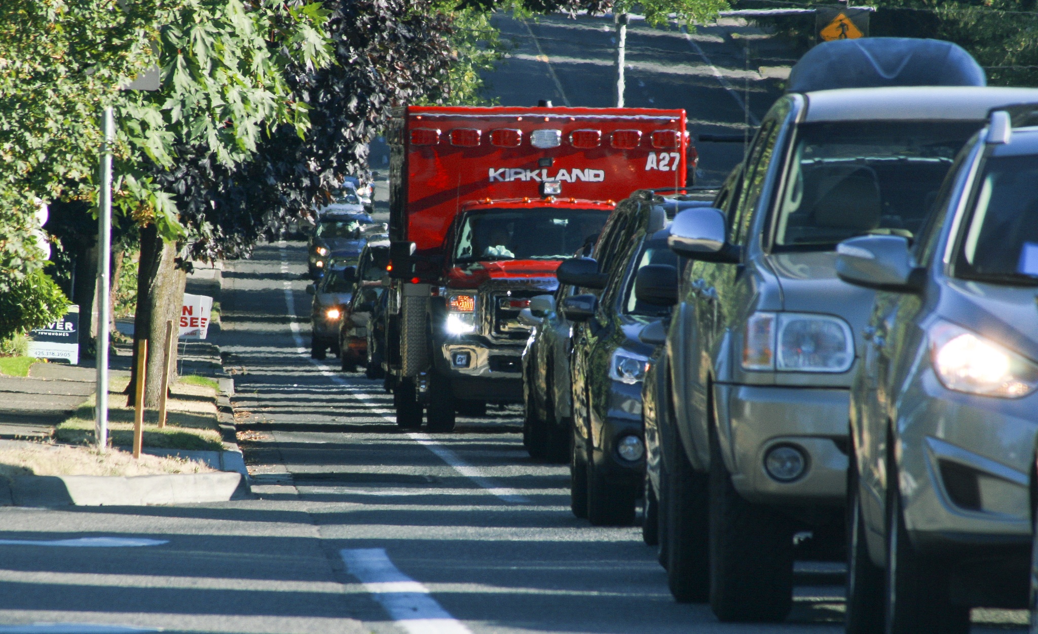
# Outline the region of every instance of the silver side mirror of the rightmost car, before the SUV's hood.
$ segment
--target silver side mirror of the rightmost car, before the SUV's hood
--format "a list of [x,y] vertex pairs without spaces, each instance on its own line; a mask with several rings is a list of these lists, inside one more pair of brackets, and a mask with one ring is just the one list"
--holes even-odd
[[859,236],[837,245],[837,275],[845,282],[895,293],[918,293],[926,269],[917,267],[903,236]]

